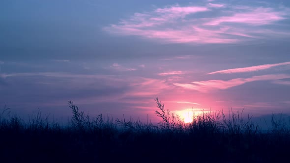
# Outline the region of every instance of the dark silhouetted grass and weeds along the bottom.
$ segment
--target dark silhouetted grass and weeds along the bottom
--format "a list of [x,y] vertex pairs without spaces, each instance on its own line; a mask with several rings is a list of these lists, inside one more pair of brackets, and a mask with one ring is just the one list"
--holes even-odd
[[290,130],[272,118],[261,132],[240,113],[203,113],[192,123],[156,99],[158,125],[140,120],[90,117],[68,102],[69,125],[49,122],[40,112],[24,122],[0,112],[1,163],[287,163]]

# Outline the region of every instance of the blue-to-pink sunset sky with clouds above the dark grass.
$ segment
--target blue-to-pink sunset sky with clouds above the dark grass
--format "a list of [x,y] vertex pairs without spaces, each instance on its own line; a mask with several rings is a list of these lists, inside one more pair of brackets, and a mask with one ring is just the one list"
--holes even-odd
[[289,0],[1,0],[0,107],[290,113]]

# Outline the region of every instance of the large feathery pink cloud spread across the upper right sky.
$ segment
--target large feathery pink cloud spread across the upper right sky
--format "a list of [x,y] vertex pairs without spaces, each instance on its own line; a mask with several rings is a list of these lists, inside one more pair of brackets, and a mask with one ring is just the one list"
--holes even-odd
[[[234,6],[208,2],[201,6],[177,4],[135,13],[103,29],[113,34],[137,35],[166,43],[237,43],[281,38],[285,37],[285,33],[289,35],[289,30],[270,26],[288,19],[289,8],[275,4],[263,5]],[[201,12],[216,15],[216,10],[219,14],[214,17],[196,15]]]

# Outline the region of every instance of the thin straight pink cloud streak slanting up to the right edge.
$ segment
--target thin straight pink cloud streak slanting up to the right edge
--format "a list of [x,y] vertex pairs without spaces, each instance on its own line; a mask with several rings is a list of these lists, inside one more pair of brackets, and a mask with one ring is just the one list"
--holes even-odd
[[265,69],[269,69],[269,68],[276,67],[276,66],[282,66],[282,65],[290,65],[290,62],[263,64],[263,65],[259,65],[259,66],[220,70],[220,71],[208,73],[208,75],[209,74],[232,74],[232,73],[252,72],[252,71],[265,70]]

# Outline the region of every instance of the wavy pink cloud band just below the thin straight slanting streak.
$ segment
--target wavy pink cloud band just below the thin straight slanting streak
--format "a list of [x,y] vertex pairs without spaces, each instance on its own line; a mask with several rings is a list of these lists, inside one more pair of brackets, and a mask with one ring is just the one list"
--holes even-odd
[[254,76],[251,78],[236,78],[229,81],[209,80],[209,81],[193,81],[191,83],[174,83],[174,85],[183,87],[185,89],[206,92],[213,89],[228,89],[252,81],[272,81],[287,78],[290,78],[290,75],[277,74],[277,75]]

